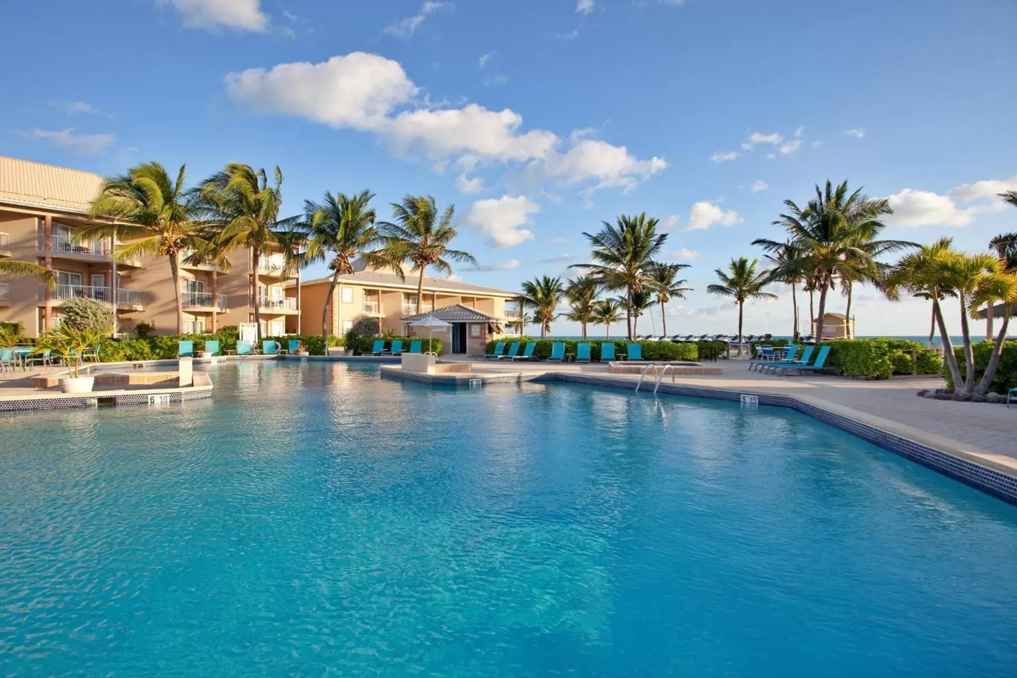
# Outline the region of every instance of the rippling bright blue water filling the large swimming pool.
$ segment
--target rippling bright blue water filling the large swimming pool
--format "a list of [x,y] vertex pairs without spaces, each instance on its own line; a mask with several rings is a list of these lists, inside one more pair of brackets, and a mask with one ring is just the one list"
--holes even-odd
[[797,413],[210,369],[0,417],[0,675],[1014,675],[1017,509]]

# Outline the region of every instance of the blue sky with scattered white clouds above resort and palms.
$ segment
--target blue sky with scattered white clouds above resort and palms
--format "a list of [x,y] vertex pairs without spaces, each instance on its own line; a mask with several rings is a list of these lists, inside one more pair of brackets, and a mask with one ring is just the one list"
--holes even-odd
[[[783,201],[827,179],[888,197],[887,238],[983,251],[1017,231],[995,199],[1017,189],[1014,35],[1013,0],[5,3],[0,153],[186,163],[191,183],[278,165],[284,215],[326,190],[370,189],[380,219],[433,195],[480,262],[457,279],[511,291],[575,276],[584,232],[645,211],[661,258],[692,264],[668,332],[733,333],[714,269],[761,257]],[[773,291],[746,333],[790,333]],[[862,335],[922,334],[929,311],[871,289],[852,305]]]

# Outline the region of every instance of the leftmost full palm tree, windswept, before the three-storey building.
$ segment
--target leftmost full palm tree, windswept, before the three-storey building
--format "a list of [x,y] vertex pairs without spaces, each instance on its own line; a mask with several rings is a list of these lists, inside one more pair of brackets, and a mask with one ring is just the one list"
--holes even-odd
[[180,166],[172,180],[159,163],[141,163],[126,174],[107,177],[89,209],[92,219],[108,223],[79,229],[77,240],[119,238],[129,241],[114,250],[118,259],[141,255],[164,256],[170,263],[173,294],[177,306],[177,333],[184,331],[183,292],[180,289],[180,255],[199,245],[203,227],[194,220],[194,211],[184,189],[185,167]]

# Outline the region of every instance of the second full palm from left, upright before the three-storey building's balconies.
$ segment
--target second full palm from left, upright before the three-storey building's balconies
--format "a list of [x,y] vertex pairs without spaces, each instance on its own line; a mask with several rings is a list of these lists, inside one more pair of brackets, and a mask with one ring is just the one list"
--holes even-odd
[[198,186],[194,204],[202,214],[206,229],[214,233],[215,251],[225,254],[246,249],[251,265],[251,291],[254,300],[254,325],[261,341],[261,290],[258,266],[261,255],[278,249],[276,233],[299,217],[279,220],[283,204],[283,173],[277,167],[274,182],[268,183],[264,169],[230,163]]

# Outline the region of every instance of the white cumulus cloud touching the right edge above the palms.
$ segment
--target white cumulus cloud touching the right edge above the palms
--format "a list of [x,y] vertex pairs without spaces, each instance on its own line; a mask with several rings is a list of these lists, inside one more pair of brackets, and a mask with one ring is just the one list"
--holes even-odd
[[887,223],[912,227],[970,226],[980,213],[1005,209],[999,194],[1012,190],[1017,190],[1017,177],[961,184],[945,195],[905,188],[887,198],[894,210]]

